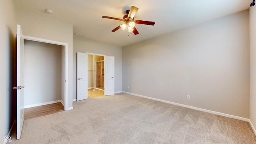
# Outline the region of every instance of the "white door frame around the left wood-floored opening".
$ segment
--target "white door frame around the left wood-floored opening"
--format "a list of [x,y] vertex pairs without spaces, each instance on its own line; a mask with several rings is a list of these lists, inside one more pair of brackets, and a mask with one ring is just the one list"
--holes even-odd
[[64,42],[57,42],[53,40],[46,40],[42,38],[35,38],[31,36],[22,36],[24,40],[31,40],[36,42],[44,42],[48,44],[56,44],[60,46],[64,46],[64,110],[68,109],[68,44]]

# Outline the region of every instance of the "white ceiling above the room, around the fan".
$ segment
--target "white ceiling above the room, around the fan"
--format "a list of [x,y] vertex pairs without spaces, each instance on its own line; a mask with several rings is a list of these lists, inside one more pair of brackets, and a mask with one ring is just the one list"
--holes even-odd
[[[85,38],[126,46],[222,16],[248,9],[252,0],[13,0],[17,8],[73,25],[73,33]],[[154,26],[136,24],[139,34],[119,29],[131,6],[139,8],[134,20],[154,21]],[[46,9],[53,11],[47,14]],[[128,36],[129,35],[129,36]],[[75,36],[75,35],[74,35]]]

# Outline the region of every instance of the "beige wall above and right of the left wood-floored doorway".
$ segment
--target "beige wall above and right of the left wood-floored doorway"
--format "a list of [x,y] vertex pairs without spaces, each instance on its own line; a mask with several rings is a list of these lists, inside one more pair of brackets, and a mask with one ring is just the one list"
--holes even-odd
[[16,8],[16,21],[26,36],[68,43],[68,108],[72,108],[73,26]]

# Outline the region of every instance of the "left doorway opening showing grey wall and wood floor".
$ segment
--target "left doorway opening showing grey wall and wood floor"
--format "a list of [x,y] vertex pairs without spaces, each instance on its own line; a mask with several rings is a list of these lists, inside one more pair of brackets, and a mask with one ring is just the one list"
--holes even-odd
[[[58,109],[64,111],[61,103],[62,49],[56,44],[24,40],[24,118],[40,116],[38,113],[43,111],[44,114]],[[57,109],[54,104],[62,107]],[[47,106],[50,108],[45,111]],[[33,114],[34,108],[36,114]]]

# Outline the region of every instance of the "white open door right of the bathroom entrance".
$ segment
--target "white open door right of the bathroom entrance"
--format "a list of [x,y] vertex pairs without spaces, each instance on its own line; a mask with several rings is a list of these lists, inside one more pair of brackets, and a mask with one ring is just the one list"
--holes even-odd
[[115,57],[105,56],[105,95],[115,94]]

